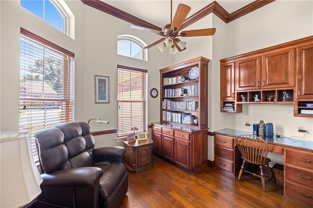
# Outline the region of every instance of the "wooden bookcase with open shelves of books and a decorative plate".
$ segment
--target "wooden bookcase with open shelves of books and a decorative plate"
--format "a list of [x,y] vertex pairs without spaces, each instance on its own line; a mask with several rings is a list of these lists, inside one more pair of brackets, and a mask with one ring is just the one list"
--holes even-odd
[[[160,69],[162,124],[207,128],[208,62],[208,59],[199,57]],[[195,67],[198,67],[199,75],[192,80],[189,73]],[[182,77],[185,77],[186,81],[183,82]],[[183,123],[184,118],[188,116],[198,119],[198,124]]]

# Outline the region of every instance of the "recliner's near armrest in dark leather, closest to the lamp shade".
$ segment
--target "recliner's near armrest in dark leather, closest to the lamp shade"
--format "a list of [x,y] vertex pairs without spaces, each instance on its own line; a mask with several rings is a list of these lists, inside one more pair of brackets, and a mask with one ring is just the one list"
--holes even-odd
[[67,187],[93,187],[94,183],[103,175],[99,167],[75,167],[42,174],[45,186],[67,186]]

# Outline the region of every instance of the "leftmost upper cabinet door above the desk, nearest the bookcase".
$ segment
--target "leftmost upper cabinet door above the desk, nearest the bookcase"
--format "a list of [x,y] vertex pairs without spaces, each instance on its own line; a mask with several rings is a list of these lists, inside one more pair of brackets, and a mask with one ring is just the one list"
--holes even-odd
[[221,99],[235,100],[235,62],[221,63]]

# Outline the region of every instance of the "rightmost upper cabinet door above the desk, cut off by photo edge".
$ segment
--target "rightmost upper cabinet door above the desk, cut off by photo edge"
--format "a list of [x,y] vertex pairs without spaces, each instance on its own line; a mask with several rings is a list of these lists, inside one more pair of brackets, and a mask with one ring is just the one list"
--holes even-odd
[[297,48],[297,99],[313,99],[313,44]]

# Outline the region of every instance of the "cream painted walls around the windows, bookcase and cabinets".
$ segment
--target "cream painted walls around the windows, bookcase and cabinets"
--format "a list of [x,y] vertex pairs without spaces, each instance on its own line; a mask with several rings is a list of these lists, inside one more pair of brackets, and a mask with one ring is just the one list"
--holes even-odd
[[[304,126],[313,139],[313,119],[293,117],[291,105],[247,104],[243,113],[220,112],[220,59],[239,55],[275,44],[313,35],[313,1],[276,0],[228,24],[215,15],[208,15],[187,29],[216,27],[213,37],[181,38],[187,49],[174,55],[168,50],[160,53],[157,47],[148,50],[148,62],[116,55],[116,37],[130,34],[150,44],[160,36],[130,29],[130,23],[93,9],[80,0],[66,0],[75,16],[75,40],[20,6],[18,0],[0,0],[0,130],[19,129],[19,51],[20,27],[55,42],[75,53],[75,121],[93,117],[109,120],[110,124],[90,123],[92,130],[116,129],[116,65],[127,65],[148,70],[148,91],[159,88],[159,69],[199,56],[210,59],[208,119],[209,130],[236,128],[263,119],[274,124],[275,132],[286,136],[302,136],[296,126]],[[301,11],[301,12],[298,12]],[[94,75],[110,77],[110,104],[94,104]],[[148,96],[148,124],[159,121],[159,96]],[[286,122],[288,121],[288,122]],[[116,134],[96,136],[96,146],[121,145]],[[212,160],[212,138],[209,138],[209,156]]]

